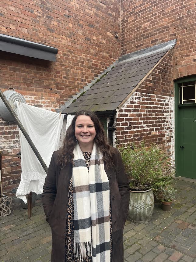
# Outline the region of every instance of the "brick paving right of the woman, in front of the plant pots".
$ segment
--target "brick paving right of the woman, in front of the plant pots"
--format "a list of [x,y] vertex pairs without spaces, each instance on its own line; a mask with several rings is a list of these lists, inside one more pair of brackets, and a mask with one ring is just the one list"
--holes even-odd
[[170,212],[155,203],[152,220],[124,227],[124,261],[196,261],[196,183],[174,181],[178,189]]

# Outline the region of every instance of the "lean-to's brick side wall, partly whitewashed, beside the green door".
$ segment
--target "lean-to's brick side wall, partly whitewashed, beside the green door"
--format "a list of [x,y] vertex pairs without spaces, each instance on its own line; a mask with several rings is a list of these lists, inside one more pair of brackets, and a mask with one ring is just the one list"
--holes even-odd
[[117,146],[145,141],[174,156],[174,87],[172,51],[117,111]]

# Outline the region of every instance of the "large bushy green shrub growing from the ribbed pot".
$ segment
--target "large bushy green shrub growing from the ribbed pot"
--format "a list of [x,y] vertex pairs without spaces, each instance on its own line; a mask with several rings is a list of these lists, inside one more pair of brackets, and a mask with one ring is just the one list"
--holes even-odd
[[147,148],[142,142],[140,148],[133,145],[121,147],[119,151],[132,190],[144,191],[153,188],[158,195],[160,188],[170,185],[174,168],[169,156],[158,145],[152,144]]

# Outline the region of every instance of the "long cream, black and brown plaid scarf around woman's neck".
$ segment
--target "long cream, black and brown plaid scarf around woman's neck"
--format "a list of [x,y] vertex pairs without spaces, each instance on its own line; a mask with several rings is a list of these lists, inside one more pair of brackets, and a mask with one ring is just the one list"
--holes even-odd
[[[103,155],[93,145],[89,172],[79,144],[73,150],[75,254],[79,261],[110,261],[110,185]],[[92,235],[91,235],[92,232]]]

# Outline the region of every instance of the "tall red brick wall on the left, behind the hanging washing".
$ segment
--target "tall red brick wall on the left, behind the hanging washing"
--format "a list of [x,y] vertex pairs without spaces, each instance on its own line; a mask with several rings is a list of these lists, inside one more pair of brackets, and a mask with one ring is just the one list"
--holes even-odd
[[[118,59],[121,46],[115,32],[120,35],[117,0],[1,0],[1,34],[54,46],[58,55],[49,62],[0,51],[0,89],[13,87],[28,104],[54,111]],[[15,124],[0,118],[2,152],[19,152],[18,135]],[[20,170],[18,158],[3,163],[3,171]],[[3,188],[10,190],[18,182],[3,178]]]

